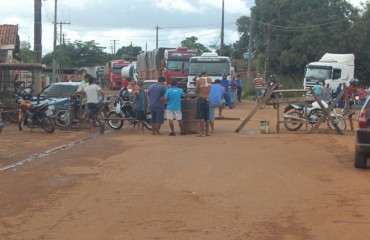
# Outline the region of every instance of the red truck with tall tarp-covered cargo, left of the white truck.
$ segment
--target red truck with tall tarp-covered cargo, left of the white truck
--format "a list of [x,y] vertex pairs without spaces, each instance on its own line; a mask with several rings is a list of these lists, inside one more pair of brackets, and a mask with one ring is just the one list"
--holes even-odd
[[198,56],[197,50],[178,48],[158,48],[137,56],[137,74],[140,80],[165,77],[167,85],[177,80],[178,87],[186,91],[189,59]]

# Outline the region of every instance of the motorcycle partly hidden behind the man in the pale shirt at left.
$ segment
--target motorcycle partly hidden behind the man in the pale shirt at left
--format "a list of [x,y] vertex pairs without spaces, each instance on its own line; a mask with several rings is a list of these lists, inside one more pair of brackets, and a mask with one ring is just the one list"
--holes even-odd
[[[71,104],[72,109],[70,109],[70,107],[65,108],[65,109],[60,109],[59,111],[55,113],[55,123],[59,127],[64,128],[64,127],[70,126],[72,123],[81,122],[78,119],[81,119],[82,116],[84,115],[85,106],[84,105],[82,106],[81,108],[82,112],[81,112],[80,111],[80,99],[77,96],[74,96],[72,99],[73,99],[72,104]],[[103,101],[100,103],[98,113],[101,115],[102,118],[106,118],[110,112],[110,109],[109,109],[110,101],[111,101],[111,97],[105,96]]]

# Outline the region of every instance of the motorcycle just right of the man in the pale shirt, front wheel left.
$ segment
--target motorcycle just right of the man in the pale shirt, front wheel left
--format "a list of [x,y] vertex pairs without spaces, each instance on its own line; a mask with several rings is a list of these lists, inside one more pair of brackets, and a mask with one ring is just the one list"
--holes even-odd
[[[130,98],[124,97],[123,99],[119,96],[116,96],[114,100],[114,107],[116,110],[110,111],[107,117],[107,123],[112,129],[118,130],[121,129],[124,123],[122,119],[122,114],[124,118],[128,118],[128,122],[136,126],[136,112],[134,111],[134,103]],[[144,121],[144,127],[148,130],[152,130],[152,115],[150,112],[146,113],[146,121]]]

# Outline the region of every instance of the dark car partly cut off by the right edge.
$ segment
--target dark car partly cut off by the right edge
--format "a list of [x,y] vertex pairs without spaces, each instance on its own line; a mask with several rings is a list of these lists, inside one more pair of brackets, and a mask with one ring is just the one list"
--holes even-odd
[[356,129],[355,167],[366,168],[370,157],[370,98],[361,109]]

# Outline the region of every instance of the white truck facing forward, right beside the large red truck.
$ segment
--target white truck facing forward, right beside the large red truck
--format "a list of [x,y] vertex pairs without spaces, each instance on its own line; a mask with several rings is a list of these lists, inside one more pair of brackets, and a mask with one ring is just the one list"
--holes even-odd
[[187,83],[188,97],[195,97],[194,79],[203,71],[207,71],[208,77],[214,82],[221,79],[223,74],[231,77],[231,60],[229,57],[218,56],[217,53],[203,53],[201,56],[191,57],[189,60],[189,75]]

